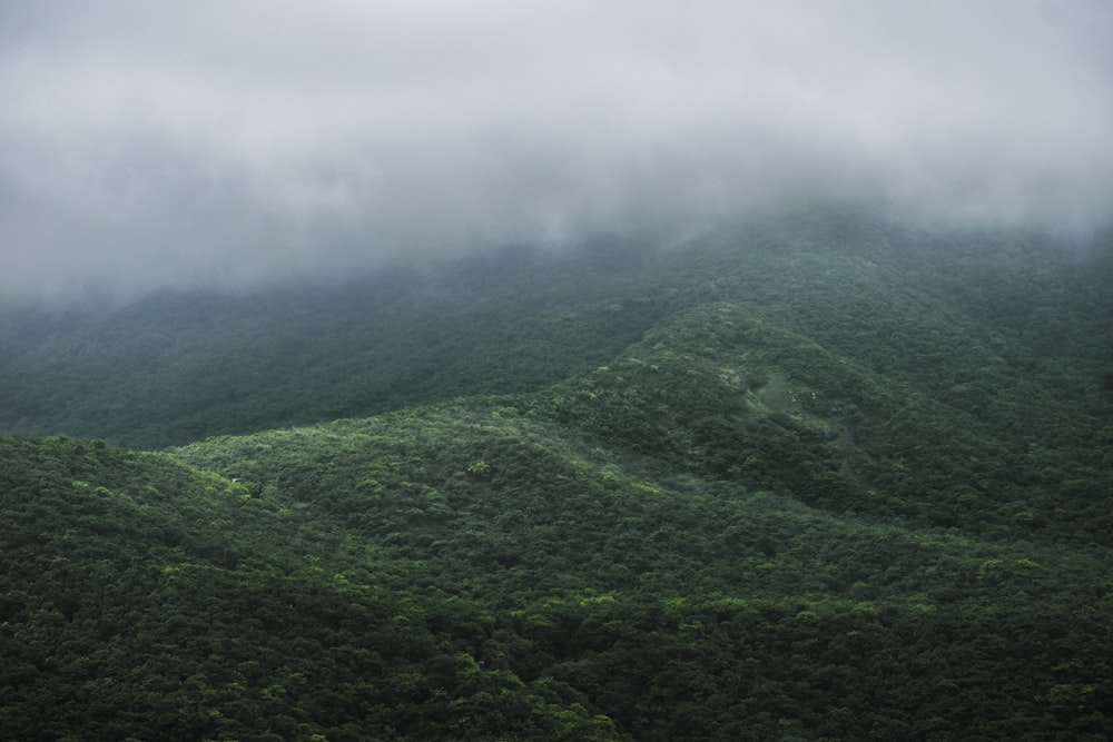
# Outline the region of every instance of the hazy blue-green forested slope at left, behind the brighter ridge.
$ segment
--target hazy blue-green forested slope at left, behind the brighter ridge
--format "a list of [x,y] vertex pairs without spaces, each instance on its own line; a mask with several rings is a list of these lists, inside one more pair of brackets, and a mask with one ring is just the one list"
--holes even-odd
[[611,239],[243,294],[0,307],[0,433],[154,449],[541,388],[662,316],[627,288],[647,259]]

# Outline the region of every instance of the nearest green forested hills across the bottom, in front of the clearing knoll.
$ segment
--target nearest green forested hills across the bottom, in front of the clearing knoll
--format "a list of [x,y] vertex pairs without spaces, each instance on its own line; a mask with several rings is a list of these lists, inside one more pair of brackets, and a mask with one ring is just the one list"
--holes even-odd
[[1104,551],[834,517],[772,479],[677,471],[512,400],[173,457],[4,441],[0,728],[1109,734]]

